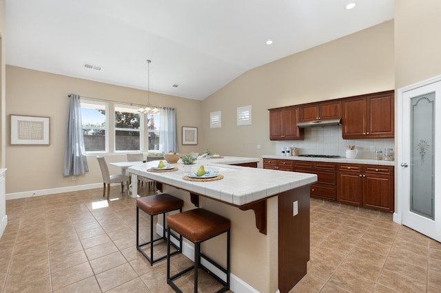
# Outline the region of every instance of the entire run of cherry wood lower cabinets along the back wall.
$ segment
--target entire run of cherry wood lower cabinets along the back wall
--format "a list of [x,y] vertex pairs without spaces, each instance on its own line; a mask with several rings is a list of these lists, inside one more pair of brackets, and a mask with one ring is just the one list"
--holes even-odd
[[263,168],[316,174],[311,197],[393,213],[393,166],[263,159]]

